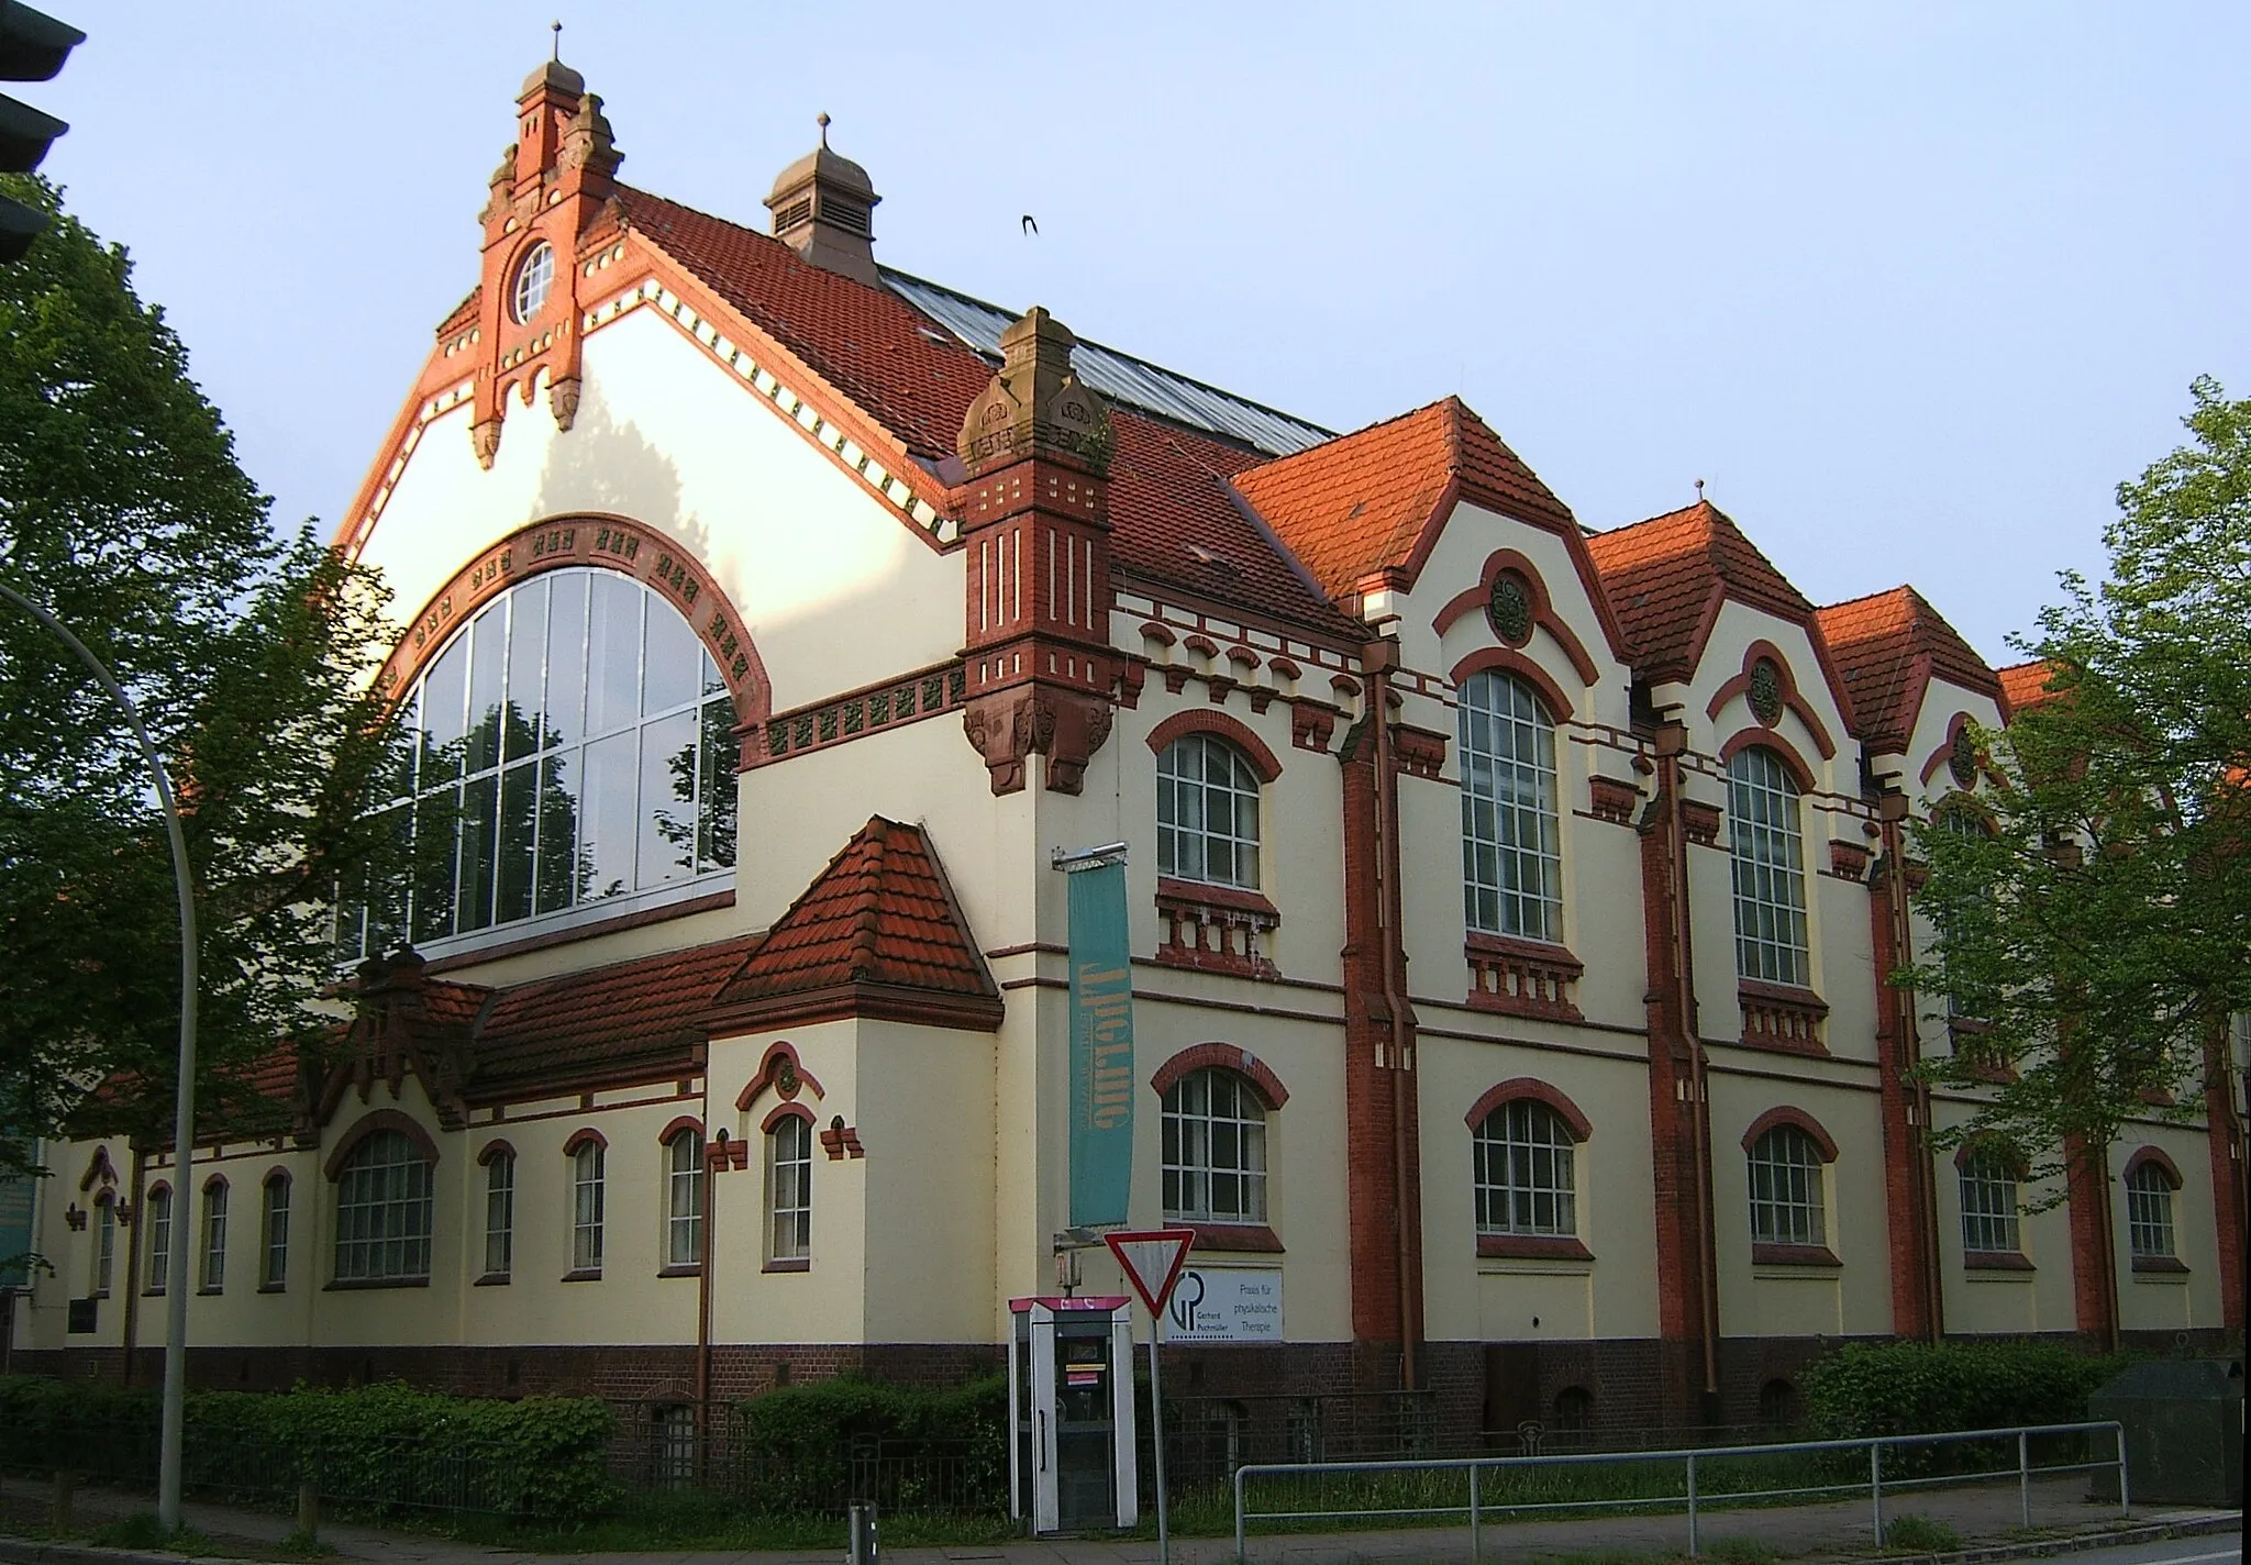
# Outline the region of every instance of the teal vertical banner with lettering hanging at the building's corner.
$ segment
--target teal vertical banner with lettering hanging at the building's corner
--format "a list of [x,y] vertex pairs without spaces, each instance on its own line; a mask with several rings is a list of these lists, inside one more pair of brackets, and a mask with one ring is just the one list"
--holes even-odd
[[1126,865],[1074,869],[1071,1227],[1126,1220],[1132,1189],[1132,953]]

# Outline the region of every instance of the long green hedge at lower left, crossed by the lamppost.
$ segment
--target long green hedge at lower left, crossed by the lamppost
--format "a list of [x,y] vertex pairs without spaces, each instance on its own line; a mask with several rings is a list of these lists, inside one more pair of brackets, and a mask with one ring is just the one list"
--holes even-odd
[[[153,1482],[158,1394],[0,1378],[0,1468],[72,1466]],[[617,1500],[610,1407],[592,1396],[515,1403],[405,1385],[194,1392],[182,1479],[198,1493],[293,1500],[311,1479],[338,1506],[585,1520]]]

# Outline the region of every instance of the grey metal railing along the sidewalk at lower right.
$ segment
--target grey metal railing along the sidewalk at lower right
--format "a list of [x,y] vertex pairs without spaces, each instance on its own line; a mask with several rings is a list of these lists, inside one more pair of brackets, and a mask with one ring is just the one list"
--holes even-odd
[[[2096,1434],[2109,1430],[2114,1441],[2114,1457],[2100,1461],[2051,1461],[2033,1464],[2033,1441],[2069,1434]],[[2017,1461],[2006,1468],[1976,1468],[1967,1473],[1940,1473],[1922,1477],[1891,1477],[1884,1479],[1884,1452],[1895,1448],[1929,1448],[1945,1443],[2015,1443]],[[2093,1441],[2082,1443],[2082,1452],[2091,1448]],[[1724,1493],[1700,1493],[1697,1486],[1697,1464],[1704,1464],[1709,1475],[1715,1464],[1740,1464],[1747,1457],[1812,1457],[1817,1461],[1828,1459],[1830,1452],[1868,1452],[1868,1477],[1850,1477],[1828,1484],[1808,1484],[1792,1488],[1731,1488]],[[1569,1497],[1569,1500],[1490,1500],[1483,1486],[1483,1477],[1504,1477],[1508,1473],[1524,1473],[1537,1468],[1587,1468],[1596,1464],[1681,1464],[1686,1484],[1677,1493],[1639,1495],[1630,1500],[1600,1500],[1600,1497]],[[2132,1495],[2127,1491],[2125,1473],[2125,1425],[2116,1421],[2098,1423],[2037,1423],[2017,1425],[2006,1430],[1952,1430],[1945,1434],[1877,1434],[1868,1439],[1841,1439],[1841,1441],[1785,1441],[1769,1446],[1709,1446],[1695,1450],[1607,1450],[1607,1452],[1571,1452],[1553,1457],[1454,1457],[1454,1459],[1425,1459],[1425,1461],[1265,1461],[1236,1468],[1236,1560],[1247,1560],[1245,1540],[1249,1522],[1315,1522],[1315,1520],[1366,1520],[1375,1515],[1398,1515],[1398,1518],[1436,1518],[1436,1515],[1463,1515],[1470,1524],[1470,1558],[1483,1558],[1483,1522],[1486,1518],[1513,1518],[1533,1511],[1605,1511],[1605,1509],[1684,1509],[1688,1515],[1688,1556],[1697,1558],[1702,1554],[1700,1515],[1720,1506],[1772,1502],[1790,1497],[1837,1497],[1848,1493],[1868,1495],[1868,1518],[1875,1527],[1877,1547],[1884,1545],[1884,1493],[1900,1493],[1909,1488],[1938,1488],[1938,1486],[1961,1486],[1981,1484],[2001,1477],[2017,1479],[2019,1506],[2024,1524],[2033,1524],[2033,1479],[2053,1477],[2057,1473],[2093,1473],[2100,1468],[2118,1470],[2118,1513],[2132,1515]],[[1252,1511],[1249,1509],[1249,1484],[1254,1479],[1272,1477],[1312,1477],[1326,1479],[1333,1475],[1373,1475],[1391,1479],[1409,1477],[1443,1477],[1461,1475],[1468,1479],[1465,1495],[1445,1495],[1443,1502],[1432,1504],[1369,1504],[1378,1495],[1364,1495],[1362,1502],[1337,1509],[1303,1509],[1303,1511]],[[1459,1486],[1450,1486],[1456,1488]],[[1438,1495],[1414,1495],[1438,1500]]]

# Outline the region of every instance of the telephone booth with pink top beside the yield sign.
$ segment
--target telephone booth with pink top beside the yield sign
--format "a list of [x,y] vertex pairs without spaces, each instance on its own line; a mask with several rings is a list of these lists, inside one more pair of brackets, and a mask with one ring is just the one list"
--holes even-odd
[[1130,1299],[1008,1299],[1008,1513],[1033,1533],[1132,1527]]

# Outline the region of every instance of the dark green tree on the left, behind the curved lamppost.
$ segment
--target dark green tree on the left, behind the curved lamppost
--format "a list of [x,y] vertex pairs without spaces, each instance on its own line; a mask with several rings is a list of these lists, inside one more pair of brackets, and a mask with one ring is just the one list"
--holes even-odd
[[[275,536],[124,250],[43,180],[0,191],[56,214],[0,266],[0,579],[110,664],[173,772],[203,919],[198,1076],[227,1121],[333,977],[331,889],[396,851],[362,808],[398,759],[371,689],[383,590],[311,522]],[[178,1018],[142,759],[72,655],[0,610],[0,1173],[97,1085],[104,1130],[169,1135]]]

